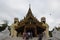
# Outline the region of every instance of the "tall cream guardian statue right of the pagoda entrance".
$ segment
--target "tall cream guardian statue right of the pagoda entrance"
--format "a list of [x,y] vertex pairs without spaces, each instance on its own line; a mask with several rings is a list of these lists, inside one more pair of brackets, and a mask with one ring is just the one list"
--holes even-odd
[[43,35],[43,38],[45,37],[45,39],[48,40],[48,38],[49,38],[49,25],[46,23],[46,18],[42,17],[41,22],[43,23],[42,26],[46,27],[45,31],[43,32],[43,34],[45,34],[45,35]]

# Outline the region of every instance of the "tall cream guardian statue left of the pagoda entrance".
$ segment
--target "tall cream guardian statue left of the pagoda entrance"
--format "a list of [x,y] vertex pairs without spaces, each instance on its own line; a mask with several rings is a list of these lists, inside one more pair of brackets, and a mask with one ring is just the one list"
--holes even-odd
[[11,37],[17,37],[17,31],[16,28],[18,27],[19,20],[18,18],[14,18],[14,23],[11,25]]

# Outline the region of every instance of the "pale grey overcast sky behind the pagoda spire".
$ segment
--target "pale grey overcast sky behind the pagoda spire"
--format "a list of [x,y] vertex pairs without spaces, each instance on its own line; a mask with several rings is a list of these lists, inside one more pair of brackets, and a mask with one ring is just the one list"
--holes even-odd
[[29,4],[33,15],[39,21],[42,16],[46,17],[49,30],[60,24],[60,0],[0,0],[0,23],[1,20],[9,20],[11,24],[14,17],[23,19]]

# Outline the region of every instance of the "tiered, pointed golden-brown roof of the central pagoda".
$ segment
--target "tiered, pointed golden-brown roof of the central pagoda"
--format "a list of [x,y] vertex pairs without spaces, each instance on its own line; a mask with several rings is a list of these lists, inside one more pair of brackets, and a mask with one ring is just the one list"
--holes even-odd
[[[33,23],[32,23],[32,22],[33,22]],[[42,28],[42,29],[45,29],[45,27],[42,26],[42,23],[39,22],[39,21],[33,16],[30,7],[29,7],[29,10],[28,10],[28,13],[27,13],[26,17],[25,17],[23,20],[21,20],[19,24],[20,24],[20,27],[26,26],[26,25],[28,25],[28,24],[29,24],[29,25],[32,24],[32,25],[34,25],[34,26],[38,26],[38,27],[40,27],[40,28]]]

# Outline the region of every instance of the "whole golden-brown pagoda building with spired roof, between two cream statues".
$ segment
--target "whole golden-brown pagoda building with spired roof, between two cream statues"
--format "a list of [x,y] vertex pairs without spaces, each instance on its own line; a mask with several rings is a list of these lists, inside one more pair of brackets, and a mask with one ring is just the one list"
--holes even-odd
[[23,35],[23,32],[32,32],[33,37],[36,37],[46,29],[32,14],[31,8],[27,12],[26,17],[19,22],[19,27],[16,28],[18,36]]

